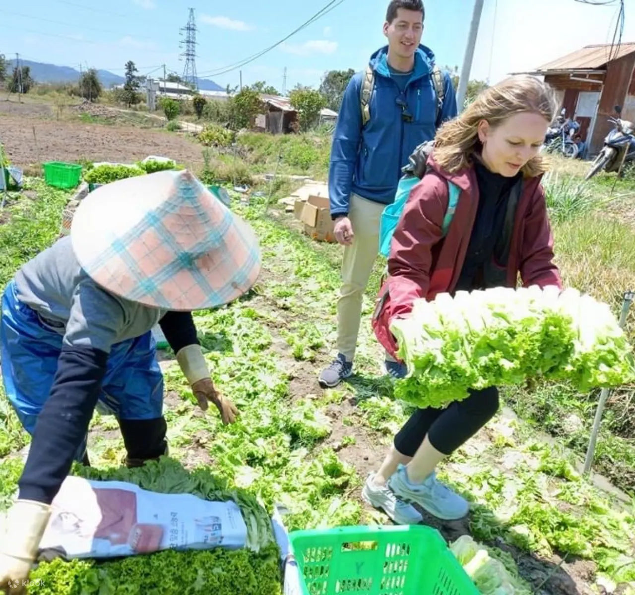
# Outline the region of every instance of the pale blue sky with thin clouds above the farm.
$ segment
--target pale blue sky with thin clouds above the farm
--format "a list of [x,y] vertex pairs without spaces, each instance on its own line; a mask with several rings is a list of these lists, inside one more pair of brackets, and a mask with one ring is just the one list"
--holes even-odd
[[[142,74],[166,63],[182,73],[179,28],[195,9],[196,65],[218,84],[239,82],[239,71],[216,75],[227,65],[267,48],[305,22],[327,0],[27,0],[2,9],[0,53],[38,62],[97,67],[123,74],[133,60]],[[331,69],[362,69],[384,44],[387,0],[342,4],[242,68],[243,83],[265,80],[278,89],[317,86]],[[473,0],[427,0],[423,42],[440,65],[460,67]],[[471,78],[500,80],[587,44],[610,42],[617,5],[575,0],[485,0]],[[635,0],[627,0],[623,41],[635,41]],[[159,70],[156,74],[159,74]]]

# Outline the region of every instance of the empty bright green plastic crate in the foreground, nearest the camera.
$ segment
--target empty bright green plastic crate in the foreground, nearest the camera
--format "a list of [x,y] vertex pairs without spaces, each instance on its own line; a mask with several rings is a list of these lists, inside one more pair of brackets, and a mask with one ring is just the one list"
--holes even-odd
[[304,595],[479,594],[443,537],[428,526],[303,530],[289,539]]

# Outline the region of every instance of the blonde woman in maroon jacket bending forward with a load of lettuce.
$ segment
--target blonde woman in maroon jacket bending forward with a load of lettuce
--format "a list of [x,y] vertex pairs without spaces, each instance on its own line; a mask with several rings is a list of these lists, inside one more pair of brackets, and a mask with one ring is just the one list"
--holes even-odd
[[[391,321],[407,317],[415,299],[516,287],[518,275],[525,286],[561,288],[538,154],[555,109],[551,88],[516,76],[483,91],[439,130],[427,174],[411,191],[394,232],[389,276],[373,315],[375,334],[393,356],[398,346]],[[443,237],[448,181],[460,193]],[[465,516],[467,501],[439,483],[434,469],[497,410],[498,390],[490,386],[446,409],[415,411],[368,477],[364,499],[400,524],[422,521],[409,502],[444,520]]]

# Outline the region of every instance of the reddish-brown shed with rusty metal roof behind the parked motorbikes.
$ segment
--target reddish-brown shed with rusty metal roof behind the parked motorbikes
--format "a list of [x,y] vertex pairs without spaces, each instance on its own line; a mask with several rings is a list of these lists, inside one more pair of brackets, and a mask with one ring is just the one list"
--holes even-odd
[[580,122],[587,155],[597,155],[613,128],[615,105],[622,118],[635,122],[635,43],[585,46],[525,74],[544,77],[558,93],[566,115]]

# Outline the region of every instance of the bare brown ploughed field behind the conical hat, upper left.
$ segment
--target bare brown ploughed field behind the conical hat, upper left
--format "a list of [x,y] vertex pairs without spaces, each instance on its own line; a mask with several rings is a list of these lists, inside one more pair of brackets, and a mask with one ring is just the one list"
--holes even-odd
[[[0,143],[18,167],[46,161],[123,161],[163,155],[196,169],[201,145],[182,133],[56,119],[55,107],[0,101]],[[65,107],[65,112],[73,110]],[[79,114],[79,111],[77,112]]]

